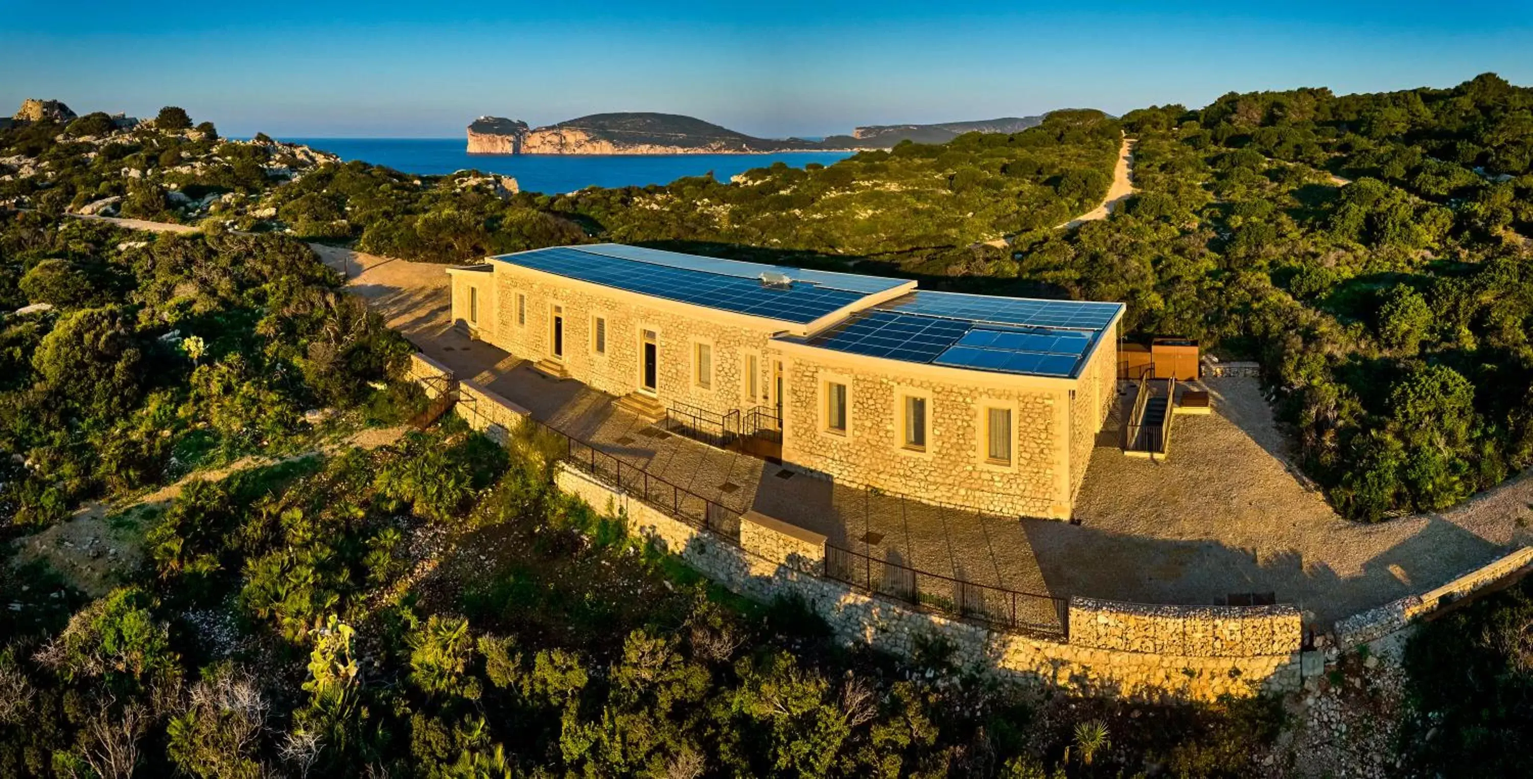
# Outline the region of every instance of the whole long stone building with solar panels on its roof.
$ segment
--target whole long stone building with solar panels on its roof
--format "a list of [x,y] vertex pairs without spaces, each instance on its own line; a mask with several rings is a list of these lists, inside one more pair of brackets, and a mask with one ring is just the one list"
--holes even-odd
[[1122,304],[616,244],[448,273],[457,327],[633,413],[998,515],[1070,517],[1116,394]]

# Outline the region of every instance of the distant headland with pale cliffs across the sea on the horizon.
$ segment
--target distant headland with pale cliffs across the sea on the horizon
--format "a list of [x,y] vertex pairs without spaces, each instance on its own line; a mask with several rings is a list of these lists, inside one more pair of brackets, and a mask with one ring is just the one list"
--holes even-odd
[[944,124],[883,124],[857,127],[823,141],[756,138],[676,113],[592,113],[532,129],[524,121],[480,117],[468,127],[471,155],[687,155],[839,152],[888,149],[900,141],[943,143],[966,132],[1018,132],[1042,117],[1009,117]]

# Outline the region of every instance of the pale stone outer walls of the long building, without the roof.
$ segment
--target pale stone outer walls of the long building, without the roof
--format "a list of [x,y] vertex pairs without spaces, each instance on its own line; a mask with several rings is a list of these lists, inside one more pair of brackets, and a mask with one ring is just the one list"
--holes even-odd
[[[808,342],[857,311],[909,293],[915,282],[892,282],[805,325],[509,261],[449,273],[454,322],[517,357],[552,360],[556,371],[595,390],[650,397],[670,409],[724,417],[762,406],[782,419],[782,462],[791,468],[996,515],[1069,518],[1116,396],[1116,319],[1096,334],[1076,376],[1033,376]],[[647,337],[656,350],[653,388],[645,386]],[[831,383],[846,391],[843,431],[829,425]],[[920,445],[906,429],[906,399],[918,399],[924,409]],[[1009,436],[995,436],[1007,439],[1004,457],[993,457],[990,409],[1007,414]]]

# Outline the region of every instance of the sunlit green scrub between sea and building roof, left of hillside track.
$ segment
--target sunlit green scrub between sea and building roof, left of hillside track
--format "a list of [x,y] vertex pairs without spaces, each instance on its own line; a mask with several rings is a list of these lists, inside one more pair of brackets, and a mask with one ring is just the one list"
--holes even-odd
[[803,255],[924,258],[1050,228],[1102,201],[1122,129],[1098,110],[1056,110],[1018,133],[901,143],[829,167],[777,163],[722,184],[584,189],[552,209],[621,242],[707,242]]

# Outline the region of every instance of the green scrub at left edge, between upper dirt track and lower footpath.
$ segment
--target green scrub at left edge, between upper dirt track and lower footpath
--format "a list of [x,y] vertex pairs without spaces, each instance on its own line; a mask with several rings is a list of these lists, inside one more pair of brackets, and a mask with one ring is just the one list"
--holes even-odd
[[0,310],[29,311],[0,320],[0,523],[299,452],[336,411],[392,422],[419,402],[388,382],[409,345],[304,244],[3,219]]

